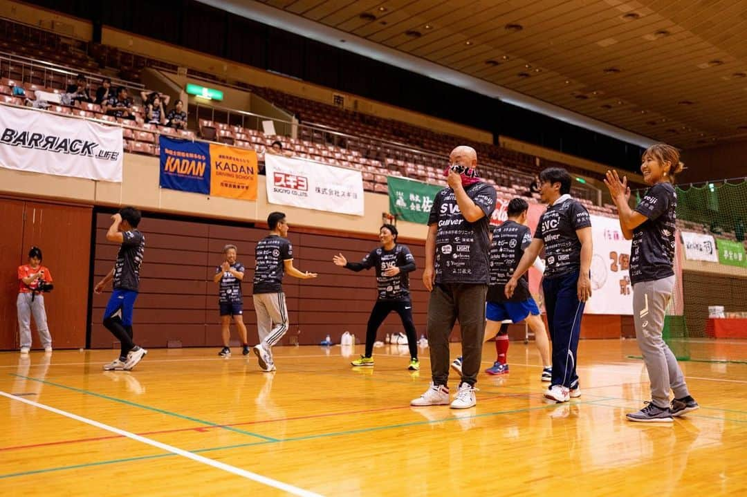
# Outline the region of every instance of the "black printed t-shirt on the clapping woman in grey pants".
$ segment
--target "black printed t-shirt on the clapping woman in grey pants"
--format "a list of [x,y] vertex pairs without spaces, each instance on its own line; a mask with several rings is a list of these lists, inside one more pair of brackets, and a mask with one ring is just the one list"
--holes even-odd
[[630,282],[654,281],[675,274],[677,193],[665,182],[649,188],[636,207],[648,220],[633,230]]

